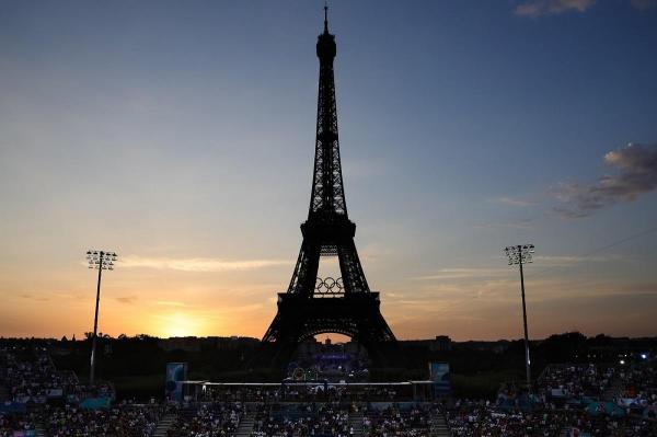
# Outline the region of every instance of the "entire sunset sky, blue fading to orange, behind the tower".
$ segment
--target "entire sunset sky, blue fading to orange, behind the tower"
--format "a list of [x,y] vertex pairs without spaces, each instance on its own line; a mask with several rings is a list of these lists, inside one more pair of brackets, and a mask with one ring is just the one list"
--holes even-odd
[[[262,337],[321,1],[0,2],[0,336]],[[657,1],[332,1],[349,216],[400,338],[657,335]],[[331,274],[334,266],[323,266]]]

